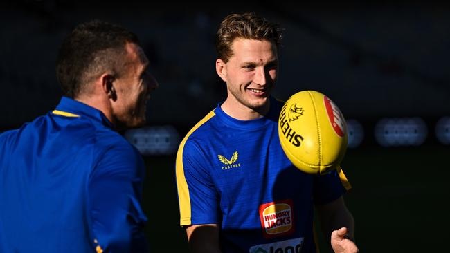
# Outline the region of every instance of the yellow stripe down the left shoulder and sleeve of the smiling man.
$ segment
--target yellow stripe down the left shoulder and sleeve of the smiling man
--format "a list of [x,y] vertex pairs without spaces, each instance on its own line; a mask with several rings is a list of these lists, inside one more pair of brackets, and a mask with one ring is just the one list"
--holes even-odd
[[190,196],[189,196],[189,188],[188,182],[184,176],[184,167],[183,167],[183,149],[184,144],[186,144],[186,140],[188,140],[189,136],[197,130],[202,124],[213,118],[215,115],[214,111],[210,111],[208,115],[205,116],[202,120],[200,120],[186,135],[186,137],[181,141],[180,146],[177,152],[177,161],[175,163],[175,171],[177,174],[177,189],[178,189],[178,199],[180,205],[180,225],[190,225],[191,221],[191,209],[190,209]]

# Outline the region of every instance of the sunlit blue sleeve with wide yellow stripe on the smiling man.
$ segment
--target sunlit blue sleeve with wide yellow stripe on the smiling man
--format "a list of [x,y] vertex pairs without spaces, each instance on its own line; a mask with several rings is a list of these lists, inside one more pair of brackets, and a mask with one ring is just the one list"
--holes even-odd
[[180,225],[219,223],[219,197],[204,159],[199,144],[181,144],[176,164]]

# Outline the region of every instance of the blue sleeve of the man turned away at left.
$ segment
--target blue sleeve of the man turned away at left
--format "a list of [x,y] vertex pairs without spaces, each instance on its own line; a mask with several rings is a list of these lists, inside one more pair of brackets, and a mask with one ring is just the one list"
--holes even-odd
[[130,144],[105,151],[88,184],[91,238],[102,252],[147,252],[141,208],[145,166]]

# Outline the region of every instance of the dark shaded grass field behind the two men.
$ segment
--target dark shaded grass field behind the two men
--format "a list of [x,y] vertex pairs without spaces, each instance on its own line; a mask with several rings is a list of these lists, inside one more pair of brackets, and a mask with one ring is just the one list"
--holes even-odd
[[[450,200],[448,148],[349,149],[343,169],[352,183],[345,201],[356,221],[360,252],[447,252]],[[147,157],[143,195],[152,252],[188,252],[179,227],[174,157]],[[319,238],[321,252],[331,252]]]

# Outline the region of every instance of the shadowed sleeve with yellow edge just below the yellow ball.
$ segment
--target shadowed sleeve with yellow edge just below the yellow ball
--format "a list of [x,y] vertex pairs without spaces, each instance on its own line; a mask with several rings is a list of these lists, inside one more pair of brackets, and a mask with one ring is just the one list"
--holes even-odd
[[314,176],[314,204],[323,205],[330,203],[349,189],[351,189],[350,183],[340,166],[325,175]]

